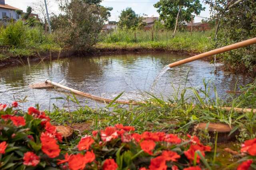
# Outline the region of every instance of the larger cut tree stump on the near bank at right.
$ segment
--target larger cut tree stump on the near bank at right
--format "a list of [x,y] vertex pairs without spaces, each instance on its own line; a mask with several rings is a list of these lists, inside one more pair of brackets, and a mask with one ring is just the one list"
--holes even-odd
[[216,132],[218,132],[217,143],[226,143],[228,141],[234,141],[236,139],[235,135],[238,132],[237,130],[229,135],[230,131],[232,131],[234,127],[230,128],[229,125],[223,123],[209,123],[207,127],[207,124],[208,123],[199,123],[198,125],[194,126],[194,129],[197,133],[208,131],[210,136],[210,142],[215,142]]

